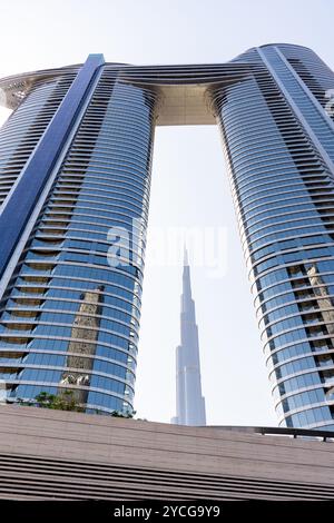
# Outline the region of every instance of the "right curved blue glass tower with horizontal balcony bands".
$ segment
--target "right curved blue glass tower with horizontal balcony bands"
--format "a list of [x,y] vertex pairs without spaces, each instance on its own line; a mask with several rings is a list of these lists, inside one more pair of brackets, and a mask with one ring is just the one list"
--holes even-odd
[[250,49],[213,90],[282,425],[334,430],[334,75],[310,49]]

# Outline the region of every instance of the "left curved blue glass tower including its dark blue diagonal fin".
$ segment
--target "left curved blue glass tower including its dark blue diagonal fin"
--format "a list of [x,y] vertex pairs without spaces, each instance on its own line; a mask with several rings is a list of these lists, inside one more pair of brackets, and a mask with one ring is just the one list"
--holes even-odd
[[[7,401],[71,389],[91,411],[132,409],[155,99],[90,56],[33,75],[2,128]],[[111,268],[116,226],[135,247]]]

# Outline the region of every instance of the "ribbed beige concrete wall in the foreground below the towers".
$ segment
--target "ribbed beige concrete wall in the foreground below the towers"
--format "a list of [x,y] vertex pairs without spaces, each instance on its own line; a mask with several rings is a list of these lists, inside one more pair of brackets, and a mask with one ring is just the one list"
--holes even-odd
[[327,499],[334,443],[1,406],[0,473],[11,499]]

